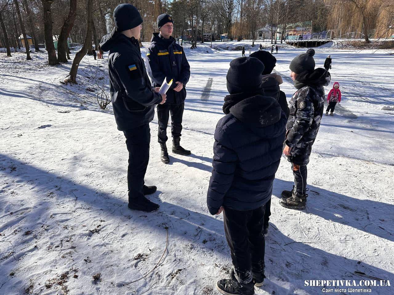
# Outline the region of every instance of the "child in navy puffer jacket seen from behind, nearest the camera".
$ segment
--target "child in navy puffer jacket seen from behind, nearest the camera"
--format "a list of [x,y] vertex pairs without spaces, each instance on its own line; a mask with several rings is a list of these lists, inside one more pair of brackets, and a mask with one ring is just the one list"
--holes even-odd
[[223,212],[234,269],[217,282],[223,294],[255,293],[264,281],[264,207],[279,167],[286,116],[261,88],[264,65],[253,57],[231,61],[223,112],[215,129],[209,212]]

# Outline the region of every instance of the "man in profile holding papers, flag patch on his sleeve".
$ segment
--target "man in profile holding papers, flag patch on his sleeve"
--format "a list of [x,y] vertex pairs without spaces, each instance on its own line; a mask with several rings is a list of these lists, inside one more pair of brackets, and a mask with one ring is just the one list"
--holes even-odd
[[[156,192],[156,186],[146,186],[145,172],[149,162],[154,105],[165,103],[165,94],[152,88],[141,58],[138,39],[142,18],[136,7],[119,4],[113,11],[115,28],[102,37],[100,48],[109,51],[108,68],[113,114],[119,130],[126,137],[128,150],[128,208],[153,212],[158,204],[145,195]],[[159,178],[156,177],[157,181]]]

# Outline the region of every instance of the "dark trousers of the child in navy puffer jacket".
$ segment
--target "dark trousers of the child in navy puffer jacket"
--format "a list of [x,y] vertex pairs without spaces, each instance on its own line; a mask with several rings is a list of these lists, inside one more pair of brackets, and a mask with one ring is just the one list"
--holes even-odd
[[236,278],[247,284],[252,280],[252,272],[264,272],[264,206],[249,211],[224,208],[223,220]]

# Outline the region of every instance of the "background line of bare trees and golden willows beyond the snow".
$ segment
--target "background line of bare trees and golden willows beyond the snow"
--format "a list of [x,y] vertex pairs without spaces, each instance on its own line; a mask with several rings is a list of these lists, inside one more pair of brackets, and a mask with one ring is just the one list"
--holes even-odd
[[[331,36],[387,38],[394,35],[394,0],[139,0],[125,1],[136,6],[143,17],[142,41],[157,32],[156,18],[169,13],[174,19],[174,37],[191,48],[197,41],[210,41],[227,33],[227,39],[256,39],[260,28],[270,29],[271,43],[284,39],[289,24],[310,21],[314,32],[331,31]],[[113,9],[119,0],[0,0],[0,45],[7,48],[34,44],[46,50],[48,62],[66,63],[67,41],[84,44],[74,58],[74,72],[82,57],[92,52],[100,39],[114,27]],[[276,28],[282,28],[276,38]],[[359,35],[357,35],[359,34]],[[20,37],[21,36],[21,37]],[[54,40],[57,42],[57,51]],[[41,44],[41,45],[40,45]],[[45,49],[43,48],[45,44]],[[26,50],[30,59],[29,50]],[[71,81],[75,81],[71,79]]]

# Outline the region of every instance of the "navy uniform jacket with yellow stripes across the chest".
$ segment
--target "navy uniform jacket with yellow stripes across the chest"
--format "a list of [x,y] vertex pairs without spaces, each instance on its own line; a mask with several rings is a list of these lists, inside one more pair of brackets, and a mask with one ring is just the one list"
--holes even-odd
[[[186,99],[186,83],[190,78],[190,66],[182,46],[173,37],[164,39],[159,33],[153,33],[151,45],[147,52],[147,70],[153,87],[160,87],[167,77],[167,82],[173,79],[167,91],[165,103],[180,104]],[[176,92],[176,81],[183,83],[183,89]]]

